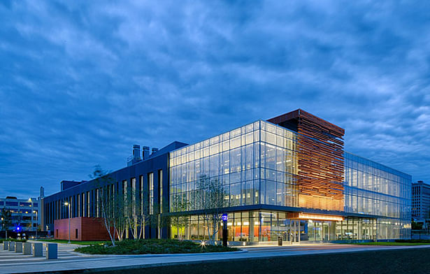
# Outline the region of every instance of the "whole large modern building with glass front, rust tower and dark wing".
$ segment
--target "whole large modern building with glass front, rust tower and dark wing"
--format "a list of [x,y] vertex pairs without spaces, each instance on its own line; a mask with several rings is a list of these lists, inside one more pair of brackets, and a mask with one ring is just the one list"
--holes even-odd
[[[145,147],[143,159],[135,146],[108,189],[145,193],[150,213],[187,215],[180,229],[145,226],[147,238],[208,238],[196,202],[202,180],[222,185],[231,242],[410,238],[410,175],[344,152],[344,133],[299,109],[192,145],[174,142],[150,155]],[[99,187],[82,182],[46,197],[45,223],[57,229],[56,220],[68,217],[64,201],[71,201],[73,218],[100,217]],[[178,200],[186,208],[178,210]]]

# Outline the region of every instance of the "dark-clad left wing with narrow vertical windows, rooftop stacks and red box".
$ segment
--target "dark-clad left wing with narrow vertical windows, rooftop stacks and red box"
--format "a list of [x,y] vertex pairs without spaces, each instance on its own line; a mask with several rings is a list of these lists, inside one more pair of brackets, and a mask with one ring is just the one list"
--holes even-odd
[[[152,211],[155,204],[162,205],[160,208],[169,208],[169,152],[184,145],[187,144],[173,142],[160,150],[152,148],[152,153],[149,147],[143,147],[142,157],[140,147],[134,145],[134,156],[128,159],[127,167],[110,173],[115,182],[108,186],[106,192],[109,195],[124,194],[134,189],[138,196],[148,194],[143,198],[144,203],[151,205],[148,210]],[[129,164],[130,161],[134,164]],[[60,192],[43,199],[43,228],[55,238],[66,239],[69,237],[66,223],[70,216],[71,240],[108,240],[106,229],[99,219],[101,187],[106,186],[100,186],[96,180],[62,181]],[[99,233],[94,235],[94,231]],[[146,238],[167,238],[168,231],[169,228],[145,226],[144,235]]]

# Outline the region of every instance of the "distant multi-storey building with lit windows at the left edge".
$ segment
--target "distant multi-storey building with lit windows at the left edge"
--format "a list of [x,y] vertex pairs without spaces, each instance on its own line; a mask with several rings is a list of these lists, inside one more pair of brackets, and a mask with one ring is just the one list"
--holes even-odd
[[0,209],[12,212],[12,222],[8,231],[36,231],[41,219],[40,207],[41,202],[36,198],[17,199],[17,197],[7,196],[0,199]]

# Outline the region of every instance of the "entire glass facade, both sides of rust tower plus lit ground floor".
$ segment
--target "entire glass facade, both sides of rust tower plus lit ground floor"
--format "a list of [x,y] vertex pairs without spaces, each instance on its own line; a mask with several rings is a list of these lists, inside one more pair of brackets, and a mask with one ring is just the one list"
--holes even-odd
[[[282,236],[299,242],[410,236],[410,175],[349,153],[345,153],[345,210],[338,212],[343,220],[289,218],[287,208],[282,207],[306,211],[298,208],[296,139],[296,132],[260,120],[171,152],[170,210],[175,212],[172,201],[182,199],[189,211],[185,227],[172,229],[171,237],[208,239],[203,217],[192,214],[201,209],[194,203],[201,178],[218,180],[224,187],[229,240],[265,242]],[[246,209],[256,205],[280,210]],[[221,238],[221,229],[217,237]]]

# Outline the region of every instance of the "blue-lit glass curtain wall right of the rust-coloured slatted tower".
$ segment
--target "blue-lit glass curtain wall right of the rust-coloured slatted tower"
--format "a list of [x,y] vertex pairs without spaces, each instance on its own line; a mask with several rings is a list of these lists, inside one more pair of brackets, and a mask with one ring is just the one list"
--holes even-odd
[[378,238],[409,238],[411,177],[345,153],[345,212],[378,215]]

